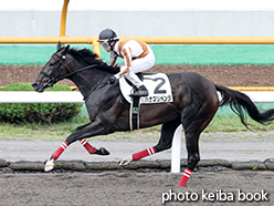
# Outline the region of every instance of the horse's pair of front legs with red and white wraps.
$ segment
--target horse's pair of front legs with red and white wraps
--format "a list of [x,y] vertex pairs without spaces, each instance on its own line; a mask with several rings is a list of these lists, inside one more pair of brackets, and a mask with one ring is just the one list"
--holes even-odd
[[78,126],[74,133],[72,133],[63,144],[51,155],[51,157],[46,161],[44,171],[50,172],[54,168],[54,161],[56,161],[61,154],[67,148],[67,146],[75,141],[80,141],[81,144],[87,150],[89,154],[97,155],[108,155],[109,152],[101,147],[96,150],[88,142],[86,142],[85,137],[92,137],[96,135],[106,134],[106,130],[102,126],[101,121],[95,121],[92,123],[87,123],[85,125]]

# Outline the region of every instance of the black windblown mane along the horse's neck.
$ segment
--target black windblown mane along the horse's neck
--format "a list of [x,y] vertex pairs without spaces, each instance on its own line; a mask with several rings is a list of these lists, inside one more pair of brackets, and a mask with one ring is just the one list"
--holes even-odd
[[108,73],[118,73],[117,68],[113,68],[103,62],[96,53],[88,49],[68,49],[66,53],[71,54],[75,60],[84,65],[96,65],[96,69],[107,71]]

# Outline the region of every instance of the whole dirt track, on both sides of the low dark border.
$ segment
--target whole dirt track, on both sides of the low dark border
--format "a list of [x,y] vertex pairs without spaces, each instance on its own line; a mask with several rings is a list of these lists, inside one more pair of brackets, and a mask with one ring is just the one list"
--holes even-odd
[[[270,133],[271,134],[271,133]],[[220,138],[220,140],[219,140]],[[244,157],[259,159],[261,152],[264,151],[267,157],[272,157],[273,140],[229,140],[203,137],[201,141],[201,155],[202,158],[236,158]],[[265,142],[266,141],[266,142]],[[105,161],[115,161],[116,163],[123,157],[137,152],[147,146],[151,146],[152,142],[96,142],[89,141],[93,145],[106,146],[114,156],[109,155],[102,157]],[[36,141],[21,141],[15,145],[14,141],[0,141],[1,154],[10,152],[11,161],[28,159],[43,161],[61,143],[45,142],[43,145],[38,146]],[[28,144],[29,143],[29,144]],[[42,144],[42,141],[39,142]],[[253,144],[252,144],[253,143]],[[223,144],[223,145],[222,145]],[[260,144],[259,146],[254,146]],[[21,145],[21,150],[20,150]],[[130,146],[131,145],[131,146]],[[234,146],[233,146],[234,145]],[[262,147],[265,145],[265,147]],[[250,147],[252,146],[252,147]],[[253,147],[254,146],[254,147]],[[34,150],[31,150],[34,148]],[[242,147],[242,148],[241,148]],[[22,151],[22,152],[20,152]],[[39,152],[40,151],[40,152]],[[185,145],[182,144],[185,153]],[[260,152],[261,151],[261,152]],[[268,153],[267,153],[268,152]],[[83,153],[83,155],[82,155]],[[20,157],[15,157],[20,154]],[[35,155],[36,154],[36,155]],[[32,155],[32,158],[30,158]],[[211,155],[211,156],[208,156]],[[8,158],[8,156],[6,156]],[[83,157],[83,158],[82,158]],[[170,158],[170,153],[156,154],[154,158]],[[146,159],[151,159],[147,157]],[[182,158],[186,154],[182,154]],[[263,161],[264,156],[261,161]],[[80,144],[73,144],[62,156],[62,159],[101,159],[97,156],[91,156],[84,151]],[[243,161],[243,159],[242,159]],[[162,205],[162,195],[167,198],[170,192],[179,195],[189,192],[198,194],[199,200],[185,200],[167,202],[166,205],[212,205],[212,200],[208,199],[208,195],[202,196],[204,193],[225,193],[233,194],[233,202],[214,202],[214,205],[273,205],[274,200],[274,171],[235,171],[229,167],[202,167],[199,166],[198,171],[192,173],[186,187],[176,187],[182,174],[167,173],[165,169],[116,169],[116,171],[93,171],[86,172],[67,172],[57,169],[52,173],[43,172],[15,172],[10,173],[9,168],[3,168],[4,173],[0,173],[0,205],[103,205],[103,206],[147,206],[147,205]],[[211,171],[211,172],[209,172]],[[212,172],[219,171],[219,172]],[[146,173],[145,173],[146,172]],[[238,192],[242,193],[261,194],[262,190],[267,193],[268,202],[239,202]],[[224,195],[223,195],[224,196]],[[193,196],[194,197],[194,196]]]

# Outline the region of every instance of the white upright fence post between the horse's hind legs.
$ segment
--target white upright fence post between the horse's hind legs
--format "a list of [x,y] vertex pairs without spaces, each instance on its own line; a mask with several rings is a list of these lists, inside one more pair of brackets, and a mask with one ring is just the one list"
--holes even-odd
[[171,146],[171,173],[180,173],[181,168],[181,130],[180,124],[173,134],[173,141]]

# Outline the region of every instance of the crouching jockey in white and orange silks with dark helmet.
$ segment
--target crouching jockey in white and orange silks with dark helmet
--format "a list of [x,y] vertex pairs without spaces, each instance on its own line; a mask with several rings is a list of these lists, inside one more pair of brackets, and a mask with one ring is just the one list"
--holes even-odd
[[148,91],[136,75],[154,66],[155,55],[149,45],[139,40],[119,40],[116,32],[105,29],[99,33],[98,42],[104,51],[110,52],[108,65],[115,66],[117,58],[123,58],[119,64],[120,72],[108,79],[108,84],[114,84],[117,79],[124,76],[136,87],[131,96],[147,96]]

